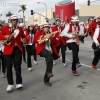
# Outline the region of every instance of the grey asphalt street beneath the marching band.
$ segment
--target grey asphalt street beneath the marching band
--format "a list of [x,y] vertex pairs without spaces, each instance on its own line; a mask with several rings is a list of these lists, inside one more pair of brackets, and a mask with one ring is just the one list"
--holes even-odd
[[[22,64],[23,89],[6,92],[7,80],[0,76],[0,100],[100,100],[100,63],[97,70],[91,68],[93,50],[90,37],[80,45],[80,62],[78,68],[80,76],[71,72],[72,53],[66,53],[67,67],[63,67],[61,59],[53,67],[54,77],[51,78],[51,87],[43,83],[46,70],[45,61],[38,57],[38,65],[33,64],[33,71],[27,70]],[[13,71],[15,79],[15,72]]]

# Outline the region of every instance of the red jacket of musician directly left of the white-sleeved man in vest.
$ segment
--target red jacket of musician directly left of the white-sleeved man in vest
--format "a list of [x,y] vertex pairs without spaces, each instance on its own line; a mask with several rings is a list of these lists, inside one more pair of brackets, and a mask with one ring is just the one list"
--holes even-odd
[[[64,29],[64,27],[61,27],[61,31]],[[58,31],[58,27],[54,26],[52,27],[52,32],[54,31]],[[66,39],[64,37],[60,37],[59,36],[59,32],[56,33],[55,38],[58,38],[59,40],[56,42],[55,46],[59,46],[60,43],[62,43],[63,45],[66,45]]]

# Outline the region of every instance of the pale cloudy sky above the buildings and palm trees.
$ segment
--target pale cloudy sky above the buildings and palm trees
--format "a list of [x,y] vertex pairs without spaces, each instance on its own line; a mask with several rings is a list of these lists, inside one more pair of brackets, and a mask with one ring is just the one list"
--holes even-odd
[[[22,12],[18,12],[20,10],[19,5],[26,4],[27,10],[25,11],[25,16],[30,15],[30,10],[34,12],[44,12],[45,6],[43,4],[37,4],[37,2],[44,2],[47,5],[47,8],[53,8],[55,11],[55,4],[59,1],[63,0],[0,0],[0,20],[6,20],[6,13],[9,11],[13,14],[22,17]],[[72,0],[73,1],[73,0]],[[87,5],[87,0],[74,0],[75,1],[75,9],[79,9],[80,5]],[[96,1],[96,0],[91,0]],[[100,1],[93,2],[91,5],[100,5]]]

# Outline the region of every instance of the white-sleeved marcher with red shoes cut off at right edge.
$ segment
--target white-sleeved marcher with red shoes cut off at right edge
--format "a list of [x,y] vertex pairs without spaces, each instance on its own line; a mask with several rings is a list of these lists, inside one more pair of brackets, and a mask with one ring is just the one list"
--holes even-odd
[[94,58],[92,61],[92,68],[97,69],[97,64],[100,59],[100,16],[96,17],[96,23],[97,27],[95,29],[94,35],[93,35],[93,44],[92,47],[94,49]]

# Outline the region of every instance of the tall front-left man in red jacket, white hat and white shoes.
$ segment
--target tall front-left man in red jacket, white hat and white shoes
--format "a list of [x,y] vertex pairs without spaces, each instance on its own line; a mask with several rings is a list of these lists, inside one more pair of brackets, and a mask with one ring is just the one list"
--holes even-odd
[[[14,89],[14,81],[12,75],[12,63],[16,72],[16,89],[23,87],[22,76],[21,76],[21,62],[22,62],[22,45],[21,38],[23,42],[26,43],[26,38],[21,27],[17,26],[18,17],[12,15],[10,17],[10,26],[5,26],[0,35],[0,39],[4,43],[4,59],[7,66],[7,92],[11,92]],[[5,40],[5,42],[4,42]],[[8,42],[7,42],[8,41]]]

